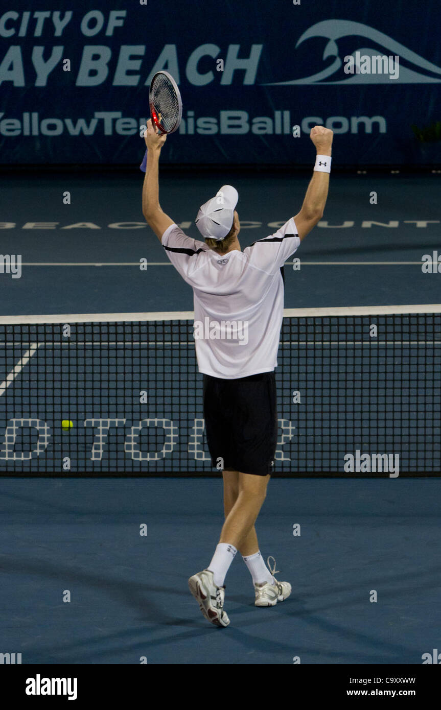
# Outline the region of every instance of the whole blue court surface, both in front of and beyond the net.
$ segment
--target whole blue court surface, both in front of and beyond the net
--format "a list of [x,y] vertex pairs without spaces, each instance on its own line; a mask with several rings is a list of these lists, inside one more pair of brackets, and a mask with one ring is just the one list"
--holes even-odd
[[[200,204],[234,185],[245,246],[298,212],[309,179],[164,170],[160,202],[197,239]],[[0,279],[1,316],[191,311],[190,287],[143,220],[141,180],[136,171],[3,176],[2,249],[22,254],[23,271]],[[300,271],[285,265],[285,307],[436,306],[441,277],[423,273],[421,260],[441,246],[439,180],[333,175],[323,222],[295,255]],[[407,366],[415,370],[412,359]],[[48,371],[40,397],[56,409],[52,378]],[[436,412],[439,388],[432,394]],[[432,425],[439,442],[436,417]],[[430,455],[435,448],[439,455],[439,444]],[[439,648],[439,479],[424,471],[413,479],[274,477],[256,530],[263,556],[275,557],[278,579],[293,593],[275,608],[256,608],[238,553],[226,580],[226,629],[205,621],[187,589],[219,539],[219,477],[2,474],[1,640],[23,663],[420,664]]]

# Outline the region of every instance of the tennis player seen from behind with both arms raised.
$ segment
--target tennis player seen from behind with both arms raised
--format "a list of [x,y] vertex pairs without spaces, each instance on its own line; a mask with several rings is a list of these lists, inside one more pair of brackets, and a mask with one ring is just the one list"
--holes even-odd
[[190,577],[190,591],[208,621],[228,626],[224,580],[237,550],[254,583],[256,606],[274,606],[291,593],[268,569],[254,523],[266,497],[278,434],[274,368],[283,319],[283,263],[322,218],[330,180],[333,133],[315,126],[314,172],[300,212],[275,234],[241,251],[236,204],[224,185],[202,204],[196,226],[204,241],[186,236],[164,214],[158,197],[158,163],[167,136],[148,121],[143,214],[165,253],[190,284],[195,304],[197,364],[204,375],[204,416],[213,466],[222,469],[225,522],[206,569]]

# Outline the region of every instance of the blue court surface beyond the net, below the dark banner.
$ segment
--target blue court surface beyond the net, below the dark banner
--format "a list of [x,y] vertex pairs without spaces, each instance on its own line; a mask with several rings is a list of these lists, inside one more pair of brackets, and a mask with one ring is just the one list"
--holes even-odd
[[[233,185],[243,249],[300,211],[311,174],[164,167],[160,204],[200,239],[200,205]],[[1,248],[20,253],[23,266],[21,278],[0,279],[0,315],[192,310],[190,286],[143,218],[142,176],[139,170],[2,175],[2,220],[10,226],[1,229]],[[441,254],[440,180],[430,172],[332,175],[323,220],[295,253],[300,271],[291,261],[285,266],[285,307],[439,302],[439,278],[423,273],[422,257]],[[369,201],[373,190],[377,204]]]

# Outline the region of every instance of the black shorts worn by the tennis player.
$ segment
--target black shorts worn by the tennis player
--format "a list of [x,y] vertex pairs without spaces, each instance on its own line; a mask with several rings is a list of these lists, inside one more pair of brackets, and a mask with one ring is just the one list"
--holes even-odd
[[204,375],[204,417],[213,466],[266,476],[277,445],[276,377],[263,372],[236,380]]

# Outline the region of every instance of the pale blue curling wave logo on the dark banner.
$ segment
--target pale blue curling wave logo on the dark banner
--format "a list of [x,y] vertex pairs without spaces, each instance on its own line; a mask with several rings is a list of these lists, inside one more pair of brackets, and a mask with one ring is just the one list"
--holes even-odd
[[[388,84],[390,81],[389,76],[388,74],[384,73],[359,74],[357,72],[354,75],[350,75],[346,79],[335,79],[334,81],[328,80],[329,77],[332,77],[332,75],[336,75],[337,72],[339,72],[339,70],[343,67],[344,60],[346,60],[346,62],[348,60],[348,58],[346,57],[342,61],[342,59],[339,57],[339,48],[337,46],[337,40],[342,39],[343,37],[350,37],[352,35],[359,35],[361,37],[366,38],[366,40],[375,42],[377,45],[383,45],[386,50],[386,55],[399,56],[400,72],[399,76],[396,77],[396,81],[394,82],[395,84],[441,83],[440,67],[437,67],[435,64],[432,64],[432,62],[428,62],[423,57],[420,57],[420,55],[416,54],[415,52],[412,52],[410,49],[400,44],[399,42],[396,42],[396,40],[393,40],[391,37],[385,35],[383,32],[379,32],[378,30],[369,27],[369,25],[364,25],[361,22],[352,22],[349,20],[323,20],[322,22],[317,22],[315,25],[312,25],[312,27],[310,27],[306,32],[304,32],[298,40],[298,43],[295,45],[295,48],[297,49],[303,42],[305,42],[305,40],[308,40],[312,37],[324,37],[328,41],[325,46],[325,51],[323,52],[323,61],[334,57],[334,61],[332,62],[332,64],[329,67],[326,67],[326,69],[322,70],[321,72],[313,74],[310,77],[305,77],[304,79],[293,79],[288,82],[271,82],[269,84],[266,84],[266,86],[288,86],[292,84]],[[360,55],[364,55],[364,57],[374,58],[378,57],[379,53],[378,50],[374,50],[371,47],[359,47],[357,50],[354,50],[352,55],[348,56],[352,57],[355,62],[356,58],[360,57]],[[414,67],[417,67],[417,69],[423,71],[419,72],[416,69],[403,67],[403,65],[401,64],[403,60],[412,64]],[[423,72],[432,72],[440,78],[432,77]]]

